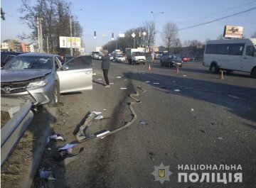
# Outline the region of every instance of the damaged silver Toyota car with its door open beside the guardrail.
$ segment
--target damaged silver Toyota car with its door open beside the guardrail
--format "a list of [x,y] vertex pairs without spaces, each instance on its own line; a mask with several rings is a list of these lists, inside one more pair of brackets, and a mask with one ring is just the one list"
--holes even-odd
[[58,55],[38,52],[12,58],[1,70],[1,97],[55,106],[60,93],[92,89],[90,55],[62,62]]

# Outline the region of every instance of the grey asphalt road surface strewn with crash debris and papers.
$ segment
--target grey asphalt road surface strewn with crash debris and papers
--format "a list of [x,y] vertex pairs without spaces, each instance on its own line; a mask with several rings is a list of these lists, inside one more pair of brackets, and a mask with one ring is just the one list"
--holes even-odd
[[[54,172],[56,180],[47,182],[48,187],[256,186],[256,79],[239,72],[220,79],[201,62],[186,62],[178,73],[175,68],[160,67],[158,61],[146,65],[112,62],[113,84],[104,88],[100,63],[93,62],[92,91],[60,97],[53,131],[65,141],[50,142],[39,167]],[[90,133],[113,131],[131,121],[128,104],[134,100],[129,94],[139,91],[139,86],[146,92],[137,96],[142,104],[134,106],[135,123],[104,139],[75,145],[73,153],[85,148],[82,156],[65,167],[55,165],[55,148],[75,140],[74,133],[89,111],[101,111],[104,116],[92,123]],[[159,167],[161,163],[164,166]],[[183,170],[178,168],[181,165]],[[191,165],[208,165],[208,169],[195,171]],[[221,170],[220,165],[233,169]],[[165,169],[164,179],[159,169]],[[196,173],[199,179],[202,173],[210,173],[210,180],[193,183],[195,175],[179,182],[180,173]],[[218,173],[220,179],[227,173],[227,180],[232,173],[233,179],[224,184],[217,179]],[[242,182],[234,183],[235,173],[242,173]],[[35,177],[33,187],[43,184]]]

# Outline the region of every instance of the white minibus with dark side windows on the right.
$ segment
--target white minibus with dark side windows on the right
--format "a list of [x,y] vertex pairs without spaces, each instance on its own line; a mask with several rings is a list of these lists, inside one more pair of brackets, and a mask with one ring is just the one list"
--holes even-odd
[[208,40],[203,66],[210,67],[212,73],[235,70],[256,77],[256,38]]

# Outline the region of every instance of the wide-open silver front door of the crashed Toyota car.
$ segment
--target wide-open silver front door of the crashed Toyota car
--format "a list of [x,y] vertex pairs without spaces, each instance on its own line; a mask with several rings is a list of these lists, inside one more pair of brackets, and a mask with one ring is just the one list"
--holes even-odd
[[60,93],[92,89],[92,57],[75,57],[60,67],[57,74]]

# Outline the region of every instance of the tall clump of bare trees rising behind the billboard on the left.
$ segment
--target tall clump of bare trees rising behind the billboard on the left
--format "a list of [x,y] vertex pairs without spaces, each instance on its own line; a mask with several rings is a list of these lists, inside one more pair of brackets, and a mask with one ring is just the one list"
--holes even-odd
[[[50,52],[60,52],[59,36],[70,36],[70,19],[73,22],[73,32],[75,30],[77,37],[82,36],[82,27],[71,13],[73,4],[65,0],[38,0],[35,6],[31,6],[31,0],[21,0],[21,2],[21,8],[18,9],[22,14],[20,19],[33,30],[31,36],[35,42],[37,41],[36,17],[43,17],[43,41],[45,41],[43,48],[45,51],[48,38]],[[67,53],[69,49],[63,48],[62,50]]]

